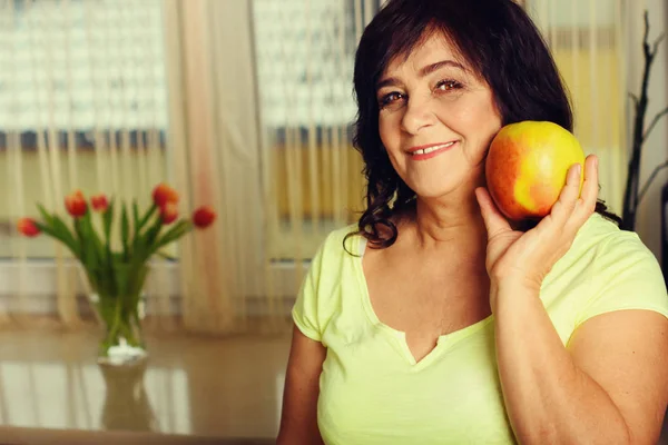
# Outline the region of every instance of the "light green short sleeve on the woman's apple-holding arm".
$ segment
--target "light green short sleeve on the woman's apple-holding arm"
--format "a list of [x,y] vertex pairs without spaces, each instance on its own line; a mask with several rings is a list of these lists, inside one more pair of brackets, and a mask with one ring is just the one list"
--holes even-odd
[[647,309],[668,316],[661,268],[636,233],[595,214],[543,281],[541,299],[566,342],[605,313]]

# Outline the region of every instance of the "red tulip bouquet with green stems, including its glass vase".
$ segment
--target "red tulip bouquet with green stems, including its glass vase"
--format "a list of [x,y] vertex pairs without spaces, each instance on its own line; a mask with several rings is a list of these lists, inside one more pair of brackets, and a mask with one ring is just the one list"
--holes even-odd
[[130,356],[146,355],[140,300],[149,259],[163,255],[161,248],[194,228],[210,226],[216,218],[214,210],[204,206],[190,218],[179,219],[177,206],[178,194],[166,184],[155,187],[153,204],[144,211],[136,200],[117,206],[114,199],[97,195],[88,201],[76,190],[65,198],[70,221],[38,205],[41,220],[21,218],[17,224],[24,236],[43,233],[56,238],[80,261],[95,293],[91,306],[105,324],[101,360],[114,350],[120,355],[128,355],[128,350]]

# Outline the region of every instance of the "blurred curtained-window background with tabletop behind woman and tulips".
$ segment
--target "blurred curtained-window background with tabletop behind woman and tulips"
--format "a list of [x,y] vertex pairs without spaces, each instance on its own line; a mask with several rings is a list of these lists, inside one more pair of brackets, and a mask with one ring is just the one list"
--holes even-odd
[[[328,231],[363,209],[352,71],[382,3],[0,0],[1,425],[276,434],[299,283]],[[570,89],[576,135],[599,156],[601,197],[621,215],[644,11],[654,41],[668,4],[523,6]],[[665,42],[648,122],[668,106],[667,55]],[[640,184],[668,157],[667,122],[645,144]],[[667,180],[657,175],[636,225],[657,258]],[[160,181],[178,190],[179,211],[209,204],[218,219],[151,263],[148,367],[109,376],[95,363],[80,267],[51,238],[21,237],[16,220],[38,217],[37,202],[65,215],[77,188],[147,205]],[[110,397],[119,380],[134,389]]]

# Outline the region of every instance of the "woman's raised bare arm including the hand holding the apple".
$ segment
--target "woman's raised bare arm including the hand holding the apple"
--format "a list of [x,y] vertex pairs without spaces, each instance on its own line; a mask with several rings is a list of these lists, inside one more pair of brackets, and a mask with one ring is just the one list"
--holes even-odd
[[578,327],[567,348],[540,300],[544,277],[596,209],[595,156],[584,162],[581,192],[580,179],[581,168],[571,167],[550,215],[527,233],[513,230],[489,192],[477,189],[505,408],[521,443],[651,444],[668,403],[666,317],[598,315]]

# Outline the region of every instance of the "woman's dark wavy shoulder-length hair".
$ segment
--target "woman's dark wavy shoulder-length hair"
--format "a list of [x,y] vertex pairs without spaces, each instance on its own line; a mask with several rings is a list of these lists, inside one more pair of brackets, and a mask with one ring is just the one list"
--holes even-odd
[[[573,130],[559,70],[520,6],[511,0],[390,0],[364,30],[354,70],[358,111],[353,145],[364,159],[367,189],[366,210],[348,236],[364,236],[372,248],[394,244],[392,217],[415,202],[415,192],[399,177],[381,141],[376,85],[392,59],[407,58],[433,33],[444,36],[491,87],[503,125],[538,120]],[[621,220],[601,200],[596,211]],[[525,221],[522,229],[536,224]]]

